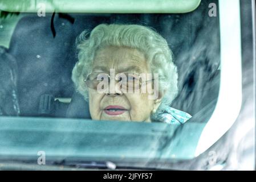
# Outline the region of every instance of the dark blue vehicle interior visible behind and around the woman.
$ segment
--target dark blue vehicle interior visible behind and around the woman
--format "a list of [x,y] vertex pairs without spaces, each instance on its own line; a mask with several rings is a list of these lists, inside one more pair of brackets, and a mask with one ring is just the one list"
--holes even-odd
[[211,2],[218,5],[202,1],[185,14],[20,13],[9,48],[0,48],[0,115],[90,118],[71,80],[75,39],[100,23],[125,23],[152,27],[168,41],[180,90],[171,106],[194,117],[208,111],[204,118],[210,117],[220,87],[219,20],[208,16]]

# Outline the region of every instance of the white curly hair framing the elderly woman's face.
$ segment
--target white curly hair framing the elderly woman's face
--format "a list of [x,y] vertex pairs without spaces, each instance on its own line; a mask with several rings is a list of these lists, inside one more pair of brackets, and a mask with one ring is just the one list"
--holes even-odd
[[91,32],[85,30],[76,39],[78,62],[72,71],[76,90],[88,101],[84,78],[91,72],[95,52],[107,46],[135,48],[145,54],[152,73],[159,74],[159,92],[164,92],[161,105],[170,105],[178,93],[177,67],[173,53],[160,34],[138,24],[99,24]]

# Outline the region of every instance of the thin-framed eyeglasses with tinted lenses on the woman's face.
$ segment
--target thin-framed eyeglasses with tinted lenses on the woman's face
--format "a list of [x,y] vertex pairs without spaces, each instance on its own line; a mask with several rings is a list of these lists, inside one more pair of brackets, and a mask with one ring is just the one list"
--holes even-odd
[[[112,78],[113,80],[113,78]],[[143,83],[152,81],[145,80],[144,77],[141,77],[138,73],[118,73],[115,75],[115,79],[113,81],[117,81],[120,85],[120,89],[126,91],[135,91],[139,90]],[[86,79],[84,79],[88,88],[97,90],[97,89],[109,89],[109,85],[111,85],[111,77],[107,73],[97,73],[93,72],[87,75]],[[114,82],[114,84],[115,84]]]

